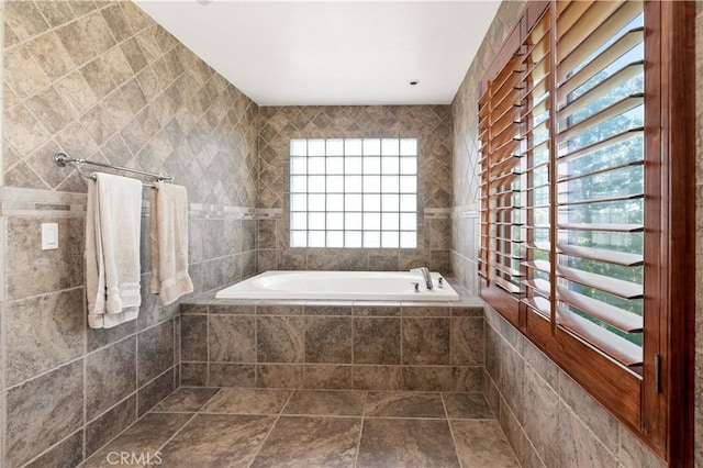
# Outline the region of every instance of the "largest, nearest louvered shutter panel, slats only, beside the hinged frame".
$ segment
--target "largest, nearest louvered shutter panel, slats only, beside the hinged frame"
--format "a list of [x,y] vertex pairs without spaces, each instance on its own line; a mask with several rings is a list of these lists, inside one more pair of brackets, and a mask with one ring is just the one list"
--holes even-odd
[[556,316],[640,371],[643,3],[580,3],[559,2],[556,19]]

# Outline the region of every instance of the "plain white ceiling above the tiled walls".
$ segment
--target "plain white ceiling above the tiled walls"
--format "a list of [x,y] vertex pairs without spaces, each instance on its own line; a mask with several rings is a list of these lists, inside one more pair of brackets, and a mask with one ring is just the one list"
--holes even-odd
[[500,4],[135,2],[260,105],[450,103]]

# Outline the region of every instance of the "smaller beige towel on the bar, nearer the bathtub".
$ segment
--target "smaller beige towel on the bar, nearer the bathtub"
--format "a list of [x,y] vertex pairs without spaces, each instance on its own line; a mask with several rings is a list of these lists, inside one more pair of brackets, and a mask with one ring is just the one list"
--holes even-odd
[[152,292],[170,304],[193,291],[188,275],[188,192],[157,182],[150,192]]

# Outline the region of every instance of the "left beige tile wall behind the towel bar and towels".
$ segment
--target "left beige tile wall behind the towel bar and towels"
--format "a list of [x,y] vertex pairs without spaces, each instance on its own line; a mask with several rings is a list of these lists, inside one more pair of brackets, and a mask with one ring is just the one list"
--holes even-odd
[[[256,271],[258,107],[130,1],[2,7],[0,465],[74,466],[178,385],[180,322],[144,290],[137,321],[87,328],[86,183],[53,154],[186,186],[203,291]],[[41,250],[43,222],[58,223],[58,249]]]

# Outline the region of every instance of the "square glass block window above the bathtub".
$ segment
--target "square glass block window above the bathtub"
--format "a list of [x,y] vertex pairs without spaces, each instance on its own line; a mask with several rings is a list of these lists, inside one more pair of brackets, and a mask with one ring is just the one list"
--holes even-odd
[[290,246],[415,248],[417,140],[291,140]]

